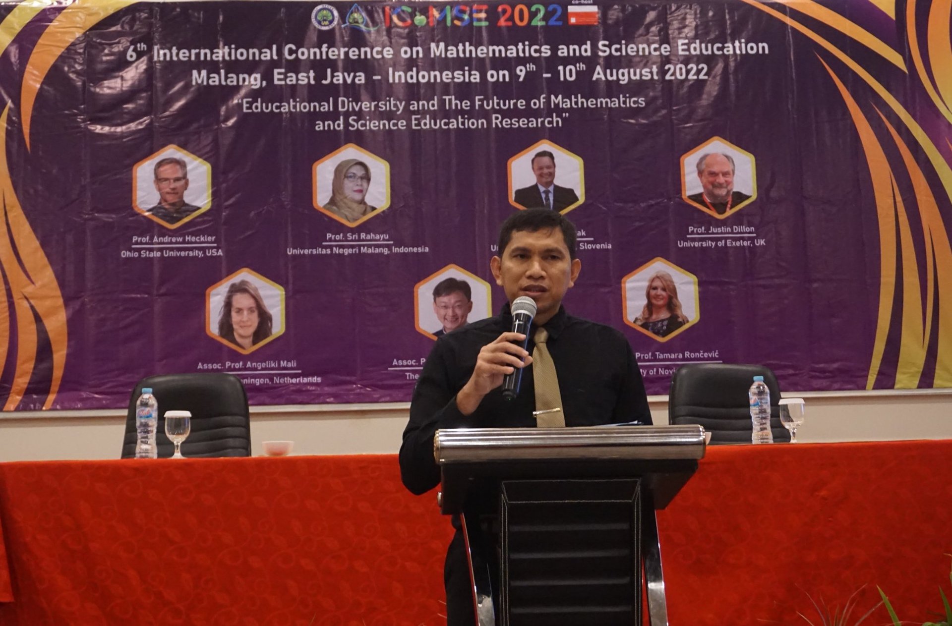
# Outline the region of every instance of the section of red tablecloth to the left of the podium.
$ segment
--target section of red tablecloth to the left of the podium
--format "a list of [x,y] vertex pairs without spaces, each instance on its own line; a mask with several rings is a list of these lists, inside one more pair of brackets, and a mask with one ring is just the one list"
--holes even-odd
[[452,534],[394,456],[0,464],[3,626],[445,623]]

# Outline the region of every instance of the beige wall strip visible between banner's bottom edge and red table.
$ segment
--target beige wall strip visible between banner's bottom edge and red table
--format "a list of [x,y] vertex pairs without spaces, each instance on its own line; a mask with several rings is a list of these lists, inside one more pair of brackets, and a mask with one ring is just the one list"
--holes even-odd
[[[952,390],[787,393],[806,398],[798,439],[864,441],[952,439]],[[667,422],[667,398],[652,397],[655,423]],[[0,461],[116,459],[123,411],[0,414]],[[294,440],[294,454],[395,453],[407,403],[252,407],[252,453],[261,441]]]

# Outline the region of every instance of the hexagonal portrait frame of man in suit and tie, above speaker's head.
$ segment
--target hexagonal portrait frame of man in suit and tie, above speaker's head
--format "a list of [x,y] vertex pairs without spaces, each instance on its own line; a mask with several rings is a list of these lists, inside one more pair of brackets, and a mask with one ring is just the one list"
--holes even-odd
[[550,202],[553,209],[565,215],[585,202],[585,162],[578,154],[548,140],[526,147],[506,163],[509,204],[520,210],[544,205],[532,166],[532,159],[543,151],[549,151],[555,157],[554,191]]

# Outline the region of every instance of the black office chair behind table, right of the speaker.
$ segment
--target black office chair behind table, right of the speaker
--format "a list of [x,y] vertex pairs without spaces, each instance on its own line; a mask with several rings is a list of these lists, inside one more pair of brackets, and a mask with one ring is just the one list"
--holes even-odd
[[770,429],[774,441],[789,441],[780,421],[780,385],[764,365],[691,363],[671,377],[667,419],[672,424],[701,424],[711,443],[750,443],[753,427],[747,390],[755,376],[763,376],[770,390]]

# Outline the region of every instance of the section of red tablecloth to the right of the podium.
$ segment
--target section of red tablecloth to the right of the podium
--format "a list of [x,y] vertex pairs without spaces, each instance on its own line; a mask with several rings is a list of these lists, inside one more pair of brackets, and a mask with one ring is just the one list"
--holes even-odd
[[863,588],[855,620],[877,585],[922,624],[952,591],[952,441],[711,447],[658,522],[675,626],[819,624],[810,597]]

